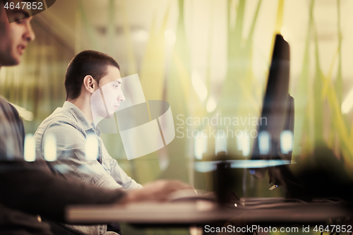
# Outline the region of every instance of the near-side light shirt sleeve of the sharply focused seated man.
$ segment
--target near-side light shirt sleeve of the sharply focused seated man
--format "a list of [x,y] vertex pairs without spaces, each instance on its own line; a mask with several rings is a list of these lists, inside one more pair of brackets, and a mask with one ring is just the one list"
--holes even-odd
[[[71,123],[66,121],[50,123],[42,139],[45,141],[49,135],[56,138],[57,158],[56,161],[49,163],[56,171],[67,179],[76,179],[101,188],[121,188],[97,159],[86,157],[85,136]],[[44,155],[44,146],[40,148]]]

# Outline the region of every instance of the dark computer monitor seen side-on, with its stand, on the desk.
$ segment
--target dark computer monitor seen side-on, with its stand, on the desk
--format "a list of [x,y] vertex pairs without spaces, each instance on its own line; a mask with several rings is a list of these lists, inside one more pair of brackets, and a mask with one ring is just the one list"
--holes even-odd
[[[251,160],[268,161],[261,168],[250,169],[250,173],[262,179],[266,172],[275,187],[285,186],[287,174],[292,178],[286,164],[292,159],[294,133],[294,99],[289,89],[289,44],[282,35],[276,35],[273,57],[268,73],[268,83],[263,99],[261,125],[253,143]],[[275,164],[271,165],[272,162]]]

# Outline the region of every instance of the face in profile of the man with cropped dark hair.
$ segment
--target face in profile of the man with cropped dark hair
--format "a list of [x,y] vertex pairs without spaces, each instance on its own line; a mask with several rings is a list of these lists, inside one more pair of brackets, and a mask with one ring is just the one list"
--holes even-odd
[[119,68],[107,67],[107,75],[100,79],[100,93],[105,102],[104,107],[93,107],[99,116],[110,118],[114,112],[118,111],[120,102],[124,102],[125,97],[121,91],[121,76]]

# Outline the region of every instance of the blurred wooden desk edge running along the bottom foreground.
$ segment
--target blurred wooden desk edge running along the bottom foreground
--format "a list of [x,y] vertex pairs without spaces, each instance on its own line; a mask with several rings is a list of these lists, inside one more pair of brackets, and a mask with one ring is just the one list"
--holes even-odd
[[132,205],[73,205],[66,210],[68,222],[95,224],[322,224],[353,215],[352,205],[332,203],[277,203],[259,207],[218,207],[208,201],[193,203],[134,203]]

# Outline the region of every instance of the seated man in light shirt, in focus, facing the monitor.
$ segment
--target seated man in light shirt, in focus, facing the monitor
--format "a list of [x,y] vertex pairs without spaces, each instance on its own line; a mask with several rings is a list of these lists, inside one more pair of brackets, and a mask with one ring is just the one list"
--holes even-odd
[[[121,91],[119,64],[107,54],[95,51],[83,51],[77,54],[68,65],[65,76],[66,102],[45,119],[34,138],[37,157],[45,158],[46,141],[56,141],[56,160],[47,162],[53,171],[59,171],[66,179],[107,189],[142,188],[113,159],[100,137],[100,129],[93,120],[93,114],[111,117],[124,102]],[[104,87],[104,88],[103,88]],[[103,89],[102,89],[103,88]],[[105,105],[97,104],[94,92],[103,92]],[[95,105],[97,104],[97,105]],[[97,156],[91,159],[86,148],[88,139],[95,138],[90,145],[97,145]],[[92,147],[92,146],[90,146]],[[114,231],[119,232],[115,224]],[[66,225],[85,234],[100,234],[107,231],[107,224],[92,226]]]

